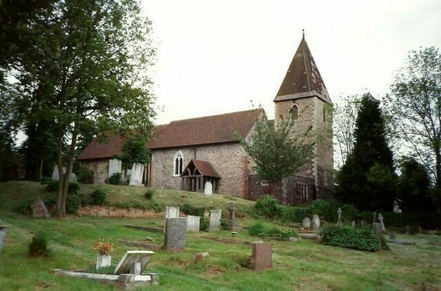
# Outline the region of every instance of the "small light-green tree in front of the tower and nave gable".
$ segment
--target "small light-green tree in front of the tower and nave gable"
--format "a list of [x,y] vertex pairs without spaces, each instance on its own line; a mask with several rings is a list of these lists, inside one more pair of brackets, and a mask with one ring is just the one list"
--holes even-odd
[[256,165],[253,170],[270,183],[289,177],[313,156],[314,143],[308,141],[309,130],[294,134],[294,121],[280,117],[278,126],[265,117],[256,120],[251,141],[238,134],[240,143]]

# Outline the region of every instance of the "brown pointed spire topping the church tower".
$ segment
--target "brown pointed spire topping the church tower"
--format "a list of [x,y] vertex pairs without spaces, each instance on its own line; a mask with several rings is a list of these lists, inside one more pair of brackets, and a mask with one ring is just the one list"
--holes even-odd
[[302,30],[302,40],[274,102],[313,96],[325,102],[331,102],[325,83],[306,43],[305,30]]

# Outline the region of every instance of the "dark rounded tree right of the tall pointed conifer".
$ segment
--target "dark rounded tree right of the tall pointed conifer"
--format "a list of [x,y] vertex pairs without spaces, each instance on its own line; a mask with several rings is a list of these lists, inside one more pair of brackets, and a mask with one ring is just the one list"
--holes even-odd
[[435,203],[429,194],[430,179],[424,165],[413,157],[404,157],[400,162],[401,174],[398,177],[398,197],[404,212],[433,211]]

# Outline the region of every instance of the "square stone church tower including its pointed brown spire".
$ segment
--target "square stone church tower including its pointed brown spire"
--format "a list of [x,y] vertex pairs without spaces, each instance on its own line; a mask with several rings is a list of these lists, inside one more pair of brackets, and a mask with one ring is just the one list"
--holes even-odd
[[[332,103],[303,33],[274,99],[275,126],[280,116],[295,119],[295,133],[314,132],[314,158],[291,183],[297,197],[314,200],[329,197],[333,186]],[[311,185],[312,184],[312,185]],[[312,193],[311,193],[312,192]],[[301,201],[301,199],[300,199]]]

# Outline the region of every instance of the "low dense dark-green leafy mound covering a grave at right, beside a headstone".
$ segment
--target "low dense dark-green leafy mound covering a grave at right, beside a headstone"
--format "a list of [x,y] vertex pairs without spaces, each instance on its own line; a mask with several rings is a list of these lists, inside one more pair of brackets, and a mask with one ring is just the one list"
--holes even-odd
[[370,228],[358,229],[350,226],[332,225],[320,231],[321,243],[336,245],[354,250],[374,252],[380,247],[377,238]]

